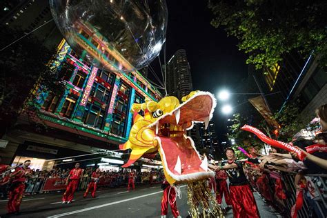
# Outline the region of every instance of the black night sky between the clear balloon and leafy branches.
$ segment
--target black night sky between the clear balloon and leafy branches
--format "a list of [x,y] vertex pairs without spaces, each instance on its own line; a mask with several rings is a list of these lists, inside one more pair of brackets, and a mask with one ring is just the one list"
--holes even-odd
[[[166,0],[166,2],[167,61],[177,50],[185,49],[195,90],[216,94],[220,88],[228,88],[240,92],[246,86],[248,75],[246,55],[238,50],[237,39],[227,37],[223,28],[217,29],[210,25],[213,15],[207,8],[208,1]],[[161,61],[163,57],[161,52]],[[230,104],[236,105],[237,102],[230,101]],[[228,117],[221,115],[220,106],[218,102],[213,119],[218,138],[222,140],[224,138],[222,135],[226,134],[224,121]]]

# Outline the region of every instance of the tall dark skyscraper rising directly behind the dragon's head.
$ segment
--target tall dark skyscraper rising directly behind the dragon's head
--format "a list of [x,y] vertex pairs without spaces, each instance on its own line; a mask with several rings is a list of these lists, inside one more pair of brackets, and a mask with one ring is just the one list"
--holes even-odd
[[[193,90],[192,75],[190,64],[186,57],[186,50],[180,49],[170,58],[167,63],[167,92],[181,100]],[[195,123],[194,128],[190,130],[189,135],[192,137],[197,148],[201,148],[201,137],[199,134],[199,125]]]

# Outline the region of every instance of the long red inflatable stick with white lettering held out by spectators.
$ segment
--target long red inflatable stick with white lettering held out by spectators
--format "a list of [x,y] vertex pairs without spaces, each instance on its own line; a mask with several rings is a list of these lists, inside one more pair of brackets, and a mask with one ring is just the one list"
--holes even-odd
[[264,141],[264,143],[268,143],[270,146],[288,150],[289,152],[296,152],[297,157],[299,157],[299,159],[301,161],[303,161],[304,158],[306,157],[306,154],[304,154],[304,152],[302,152],[301,150],[299,150],[298,148],[293,146],[291,143],[285,143],[283,141],[277,141],[275,139],[270,139],[269,137],[264,135],[263,132],[261,132],[260,130],[258,130],[257,128],[255,128],[253,126],[244,125],[243,127],[241,127],[241,130],[246,130],[248,132],[254,133],[255,135],[257,135],[257,137],[259,137],[259,139],[261,141]]

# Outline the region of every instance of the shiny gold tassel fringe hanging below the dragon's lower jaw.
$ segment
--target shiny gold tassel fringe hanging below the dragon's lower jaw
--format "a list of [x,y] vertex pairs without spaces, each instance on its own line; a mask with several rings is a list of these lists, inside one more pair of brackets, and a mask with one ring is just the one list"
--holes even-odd
[[190,207],[190,217],[193,218],[224,217],[206,184],[206,179],[188,184],[188,206]]

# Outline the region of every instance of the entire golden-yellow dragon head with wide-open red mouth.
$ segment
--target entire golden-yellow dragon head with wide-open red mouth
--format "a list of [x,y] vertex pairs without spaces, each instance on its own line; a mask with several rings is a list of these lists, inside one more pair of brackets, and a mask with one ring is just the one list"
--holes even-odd
[[[204,122],[205,128],[216,106],[209,92],[191,92],[179,103],[176,97],[164,97],[159,102],[146,99],[145,103],[132,105],[134,124],[128,141],[119,146],[131,149],[128,167],[145,154],[159,152],[167,181],[195,181],[214,176],[208,161],[201,160],[194,141],[186,135],[193,123]],[[139,115],[143,110],[144,116]]]

